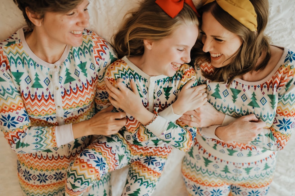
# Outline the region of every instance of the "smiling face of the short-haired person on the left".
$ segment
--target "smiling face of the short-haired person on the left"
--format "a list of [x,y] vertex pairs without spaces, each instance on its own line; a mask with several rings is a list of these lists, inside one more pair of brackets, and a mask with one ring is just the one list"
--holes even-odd
[[80,46],[83,29],[89,26],[88,4],[88,0],[83,0],[76,8],[65,14],[46,12],[40,25],[44,33],[42,39],[56,46]]

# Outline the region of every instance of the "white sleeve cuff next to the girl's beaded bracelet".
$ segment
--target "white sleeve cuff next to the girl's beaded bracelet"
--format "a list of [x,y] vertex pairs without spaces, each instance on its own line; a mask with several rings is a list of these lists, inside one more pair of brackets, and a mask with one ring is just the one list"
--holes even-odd
[[145,127],[158,137],[167,129],[168,122],[166,118],[156,115]]

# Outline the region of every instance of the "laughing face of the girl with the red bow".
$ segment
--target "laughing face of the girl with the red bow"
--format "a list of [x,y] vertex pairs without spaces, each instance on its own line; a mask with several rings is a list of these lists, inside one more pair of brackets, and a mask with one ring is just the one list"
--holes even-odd
[[198,37],[199,29],[194,25],[180,25],[170,36],[152,42],[149,58],[153,65],[145,67],[148,75],[172,77],[183,63],[191,61],[191,48]]

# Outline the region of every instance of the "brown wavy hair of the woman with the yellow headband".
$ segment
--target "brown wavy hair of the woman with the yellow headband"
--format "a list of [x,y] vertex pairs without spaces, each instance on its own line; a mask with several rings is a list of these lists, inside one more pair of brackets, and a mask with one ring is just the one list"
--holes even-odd
[[[203,72],[203,75],[209,80],[230,84],[236,77],[251,71],[262,70],[266,67],[271,56],[269,38],[264,35],[264,30],[268,22],[268,0],[250,1],[257,14],[257,32],[250,31],[247,27],[238,22],[224,11],[216,1],[206,4],[198,10],[201,16],[204,12],[210,12],[224,28],[237,34],[242,40],[241,47],[234,54],[232,61],[228,65],[214,68],[213,74]],[[203,43],[201,39],[198,39],[191,51],[191,59],[195,65],[210,61],[209,52],[203,52],[202,48]],[[258,58],[263,53],[265,54],[265,58],[260,64],[256,65]]]

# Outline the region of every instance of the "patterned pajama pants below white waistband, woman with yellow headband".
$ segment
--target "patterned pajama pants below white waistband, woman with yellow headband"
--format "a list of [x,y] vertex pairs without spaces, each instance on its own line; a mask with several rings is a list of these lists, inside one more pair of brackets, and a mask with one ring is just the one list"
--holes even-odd
[[182,175],[190,196],[267,195],[276,153],[254,162],[230,162],[204,150],[201,140],[186,153]]

